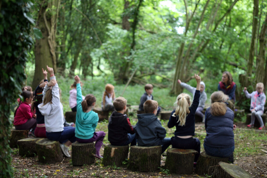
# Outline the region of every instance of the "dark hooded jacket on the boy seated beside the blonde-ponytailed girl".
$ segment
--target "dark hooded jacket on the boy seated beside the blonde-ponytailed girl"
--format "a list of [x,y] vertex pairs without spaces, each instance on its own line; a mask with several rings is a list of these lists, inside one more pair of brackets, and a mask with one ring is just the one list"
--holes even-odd
[[137,114],[135,135],[138,146],[151,147],[160,145],[166,136],[166,130],[153,113]]

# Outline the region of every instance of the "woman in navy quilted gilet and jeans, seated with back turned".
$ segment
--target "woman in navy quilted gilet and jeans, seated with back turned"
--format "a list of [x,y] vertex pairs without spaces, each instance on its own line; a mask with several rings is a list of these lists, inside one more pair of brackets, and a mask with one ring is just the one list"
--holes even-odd
[[226,106],[227,96],[222,91],[212,93],[210,100],[211,106],[205,112],[205,152],[210,156],[229,157],[228,160],[233,163],[234,112]]

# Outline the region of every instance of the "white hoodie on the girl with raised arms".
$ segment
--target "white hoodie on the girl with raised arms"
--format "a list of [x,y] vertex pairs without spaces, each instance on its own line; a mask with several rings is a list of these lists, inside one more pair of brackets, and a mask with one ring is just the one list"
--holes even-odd
[[[50,80],[56,79],[55,76],[50,77]],[[43,90],[43,101],[46,91],[50,87],[45,85]],[[58,84],[52,86],[52,104],[46,103],[45,105],[39,104],[38,108],[43,116],[45,116],[45,129],[46,132],[61,132],[64,130],[64,114],[63,106],[60,102]]]

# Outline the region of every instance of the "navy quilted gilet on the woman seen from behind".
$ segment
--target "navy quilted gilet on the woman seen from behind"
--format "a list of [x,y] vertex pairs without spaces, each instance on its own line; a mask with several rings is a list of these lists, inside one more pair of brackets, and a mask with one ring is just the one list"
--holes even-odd
[[223,116],[213,116],[210,107],[205,112],[205,145],[213,148],[229,148],[234,146],[233,122],[234,112],[227,107]]

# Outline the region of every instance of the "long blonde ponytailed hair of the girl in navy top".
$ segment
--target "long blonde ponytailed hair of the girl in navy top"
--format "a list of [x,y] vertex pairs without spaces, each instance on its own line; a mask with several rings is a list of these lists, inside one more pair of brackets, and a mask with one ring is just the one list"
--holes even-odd
[[183,126],[185,125],[187,114],[190,113],[190,96],[186,93],[181,93],[177,96],[176,102],[174,104],[177,104],[178,106],[175,109],[175,114],[173,114],[172,116],[179,116],[177,122],[180,121],[179,125]]

